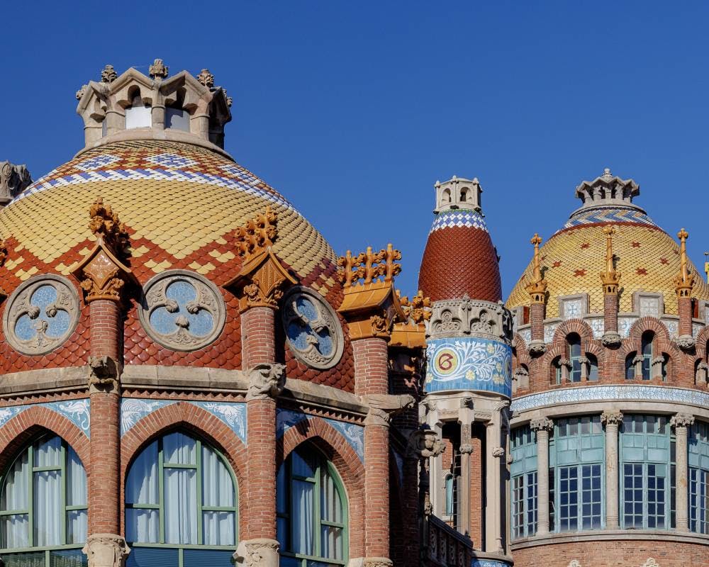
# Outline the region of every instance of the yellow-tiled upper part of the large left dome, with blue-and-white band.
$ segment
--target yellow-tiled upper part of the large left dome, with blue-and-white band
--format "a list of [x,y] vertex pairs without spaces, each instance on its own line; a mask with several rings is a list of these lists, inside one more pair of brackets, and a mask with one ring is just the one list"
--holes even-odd
[[235,228],[270,206],[278,214],[274,252],[313,288],[325,293],[333,286],[333,249],[283,196],[224,153],[167,140],[86,150],[1,210],[10,278],[68,274],[94,240],[88,214],[99,196],[127,225],[131,265],[141,280],[170,268],[217,280],[223,271],[233,276],[240,264]]

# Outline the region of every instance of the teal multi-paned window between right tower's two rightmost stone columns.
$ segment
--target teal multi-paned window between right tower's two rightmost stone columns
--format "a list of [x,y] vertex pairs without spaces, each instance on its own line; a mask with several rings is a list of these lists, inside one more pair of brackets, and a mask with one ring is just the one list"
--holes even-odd
[[625,415],[620,430],[620,525],[674,527],[675,442],[664,415]]

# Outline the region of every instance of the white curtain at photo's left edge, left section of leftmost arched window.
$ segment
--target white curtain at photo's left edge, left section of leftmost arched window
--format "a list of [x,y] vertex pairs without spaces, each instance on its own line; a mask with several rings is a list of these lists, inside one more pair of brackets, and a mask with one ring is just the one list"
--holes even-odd
[[[28,451],[24,451],[10,468],[2,491],[3,510],[27,510],[29,493]],[[29,545],[28,516],[17,514],[2,520],[2,546],[27,547]]]

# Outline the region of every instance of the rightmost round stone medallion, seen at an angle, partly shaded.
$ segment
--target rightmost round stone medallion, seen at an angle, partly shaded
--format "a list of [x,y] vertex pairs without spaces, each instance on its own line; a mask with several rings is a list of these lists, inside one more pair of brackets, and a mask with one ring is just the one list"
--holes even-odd
[[288,347],[313,368],[332,368],[340,361],[345,337],[335,310],[311,289],[295,286],[283,299],[281,322]]

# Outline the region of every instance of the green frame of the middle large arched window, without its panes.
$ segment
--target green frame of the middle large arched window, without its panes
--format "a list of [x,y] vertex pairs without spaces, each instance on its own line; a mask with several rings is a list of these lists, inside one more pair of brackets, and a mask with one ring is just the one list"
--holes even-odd
[[[194,453],[195,453],[195,462],[186,464],[186,463],[179,463],[179,462],[171,462],[167,461],[167,456],[165,455],[164,451],[164,441],[169,437],[170,435],[173,434],[180,434],[183,435],[184,437],[187,437],[194,441]],[[174,550],[175,551],[175,565],[176,567],[193,567],[193,566],[198,566],[203,564],[204,561],[207,561],[210,563],[212,566],[218,566],[221,564],[222,561],[224,561],[224,565],[228,566],[230,565],[230,558],[231,554],[233,554],[234,550],[236,549],[236,546],[238,544],[238,536],[239,536],[239,494],[238,494],[238,482],[236,479],[236,476],[234,474],[234,471],[232,470],[231,466],[229,465],[228,461],[225,459],[225,456],[221,454],[220,451],[218,451],[215,447],[212,447],[210,444],[203,444],[201,439],[199,437],[196,437],[195,435],[183,432],[183,431],[177,431],[177,432],[171,432],[169,434],[164,435],[163,437],[160,437],[156,439],[154,442],[151,444],[147,445],[141,451],[141,454],[143,454],[144,451],[147,451],[150,449],[152,444],[157,444],[157,492],[158,492],[158,498],[157,498],[157,504],[156,503],[130,503],[128,502],[128,491],[126,491],[126,501],[125,501],[125,515],[126,515],[126,527],[128,526],[128,514],[130,513],[130,510],[155,510],[157,511],[158,514],[158,523],[159,523],[159,535],[158,535],[158,540],[157,542],[141,542],[141,541],[128,541],[128,544],[131,548],[134,549],[133,553],[131,553],[128,556],[128,561],[126,563],[127,567],[143,567],[147,565],[151,565],[153,561],[160,561],[162,560],[162,556],[160,560],[157,558],[157,556],[152,557],[151,552],[147,551],[148,549],[155,549],[154,552],[157,554],[160,549],[163,550]],[[229,473],[229,478],[231,480],[232,486],[233,486],[233,506],[216,506],[216,505],[206,505],[204,504],[204,492],[206,486],[203,483],[203,478],[206,477],[204,474],[204,469],[203,469],[203,457],[202,457],[202,451],[203,449],[208,449],[208,451],[211,451],[213,454],[216,454],[217,458],[222,462],[222,464],[225,466],[226,470]],[[140,456],[140,455],[139,455]],[[126,478],[130,477],[130,473],[132,472],[133,466],[135,466],[135,462],[137,459],[133,461],[133,464],[131,465],[131,469],[128,471],[128,476]],[[176,543],[176,542],[170,542],[168,541],[168,536],[166,534],[165,530],[165,520],[166,520],[166,510],[165,510],[165,498],[166,498],[166,489],[165,489],[165,472],[170,471],[170,470],[188,470],[188,471],[194,471],[195,475],[195,493],[194,497],[196,499],[196,502],[194,503],[195,505],[195,511],[196,511],[196,543],[193,544],[186,544],[186,543]],[[234,533],[234,542],[233,544],[228,544],[228,545],[213,545],[213,544],[204,544],[204,539],[205,539],[205,533],[204,533],[204,525],[203,525],[203,517],[204,517],[204,512],[229,512],[233,513],[233,518],[234,518],[234,526],[233,526],[233,533]],[[126,529],[126,532],[128,532],[128,529]],[[126,534],[128,535],[128,534]],[[142,555],[144,556],[140,561],[135,557],[135,550],[136,549],[145,549],[146,551],[143,551]],[[202,552],[201,554],[198,554],[198,552]],[[219,552],[224,552],[228,551],[228,554],[226,553],[219,553]],[[210,553],[211,552],[211,553]]]

